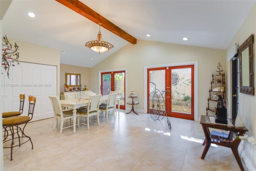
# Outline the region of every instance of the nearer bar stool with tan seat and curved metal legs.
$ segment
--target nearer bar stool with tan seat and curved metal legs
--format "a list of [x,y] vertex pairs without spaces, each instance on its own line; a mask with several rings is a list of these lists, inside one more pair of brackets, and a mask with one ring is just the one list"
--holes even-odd
[[[12,149],[13,149],[13,147],[16,147],[16,146],[20,147],[20,145],[30,141],[31,145],[32,145],[32,149],[33,149],[33,143],[31,141],[31,138],[24,133],[24,129],[25,129],[27,123],[29,121],[31,121],[31,119],[33,117],[34,107],[35,107],[35,104],[36,104],[36,97],[34,97],[32,95],[29,95],[28,96],[28,101],[29,101],[28,116],[12,116],[12,117],[6,117],[6,118],[2,119],[3,127],[10,127],[10,132],[11,132],[11,135],[12,135],[12,139],[8,139],[8,140],[3,142],[3,143],[7,143],[8,141],[12,141],[10,147],[4,147],[4,148],[11,148],[11,159],[10,160],[12,160]],[[25,124],[23,129],[21,129],[19,127],[19,125],[22,125],[22,124]],[[15,138],[14,138],[14,126],[16,127],[15,128],[17,130],[16,134],[18,135],[18,137],[15,137]],[[19,134],[19,131],[21,131],[21,135]],[[20,140],[21,138],[22,138],[22,142]],[[28,140],[24,141],[24,138],[28,138]],[[14,145],[14,139],[19,140],[18,145]]]

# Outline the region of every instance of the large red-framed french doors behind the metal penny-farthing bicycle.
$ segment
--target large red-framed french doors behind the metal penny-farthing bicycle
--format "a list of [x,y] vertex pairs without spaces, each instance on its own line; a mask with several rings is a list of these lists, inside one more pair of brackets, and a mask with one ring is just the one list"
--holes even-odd
[[148,96],[155,89],[168,116],[194,120],[194,65],[148,69]]

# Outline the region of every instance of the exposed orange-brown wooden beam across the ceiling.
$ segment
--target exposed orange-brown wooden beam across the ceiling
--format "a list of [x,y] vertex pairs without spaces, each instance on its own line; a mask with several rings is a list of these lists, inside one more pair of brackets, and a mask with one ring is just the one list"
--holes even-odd
[[110,32],[116,34],[117,36],[123,38],[124,40],[130,42],[131,44],[136,44],[137,39],[132,37],[130,34],[126,33],[124,30],[83,4],[82,2],[78,0],[56,0],[57,2],[60,2],[60,4],[70,8],[71,10],[74,10],[78,14],[81,14],[82,16],[88,18],[89,20],[92,20],[96,24],[101,23],[101,26],[109,30]]

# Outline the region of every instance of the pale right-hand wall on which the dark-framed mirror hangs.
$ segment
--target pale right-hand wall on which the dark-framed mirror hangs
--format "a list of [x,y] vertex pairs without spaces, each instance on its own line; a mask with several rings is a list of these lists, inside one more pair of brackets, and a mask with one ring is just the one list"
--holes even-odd
[[[256,5],[252,8],[250,13],[248,14],[246,20],[244,20],[243,24],[239,28],[238,32],[230,42],[228,49],[226,52],[230,50],[230,48],[238,43],[241,45],[251,34],[254,34],[254,46],[253,46],[253,61],[254,61],[254,87],[256,86],[256,44],[255,44],[255,34],[256,34]],[[227,63],[228,74],[231,77],[232,69],[231,62]],[[231,86],[231,79],[228,79],[228,84]],[[255,88],[254,88],[255,91]],[[255,94],[255,93],[254,93]],[[230,93],[231,97],[231,93]],[[238,110],[241,111],[242,119],[244,121],[245,127],[249,130],[248,135],[256,138],[256,95],[247,95],[244,93],[238,93]],[[230,103],[231,104],[231,103]],[[250,143],[244,143],[242,141],[240,145],[240,155],[242,155],[248,170],[256,170],[256,146],[251,145]]]

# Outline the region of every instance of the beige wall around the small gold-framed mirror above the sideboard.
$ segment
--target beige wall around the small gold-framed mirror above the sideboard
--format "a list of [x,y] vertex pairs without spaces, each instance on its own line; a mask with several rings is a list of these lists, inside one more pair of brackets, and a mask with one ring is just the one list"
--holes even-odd
[[64,91],[65,73],[81,74],[82,89],[84,84],[86,84],[90,90],[90,68],[60,64],[60,91]]

